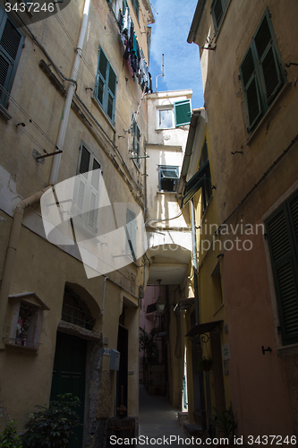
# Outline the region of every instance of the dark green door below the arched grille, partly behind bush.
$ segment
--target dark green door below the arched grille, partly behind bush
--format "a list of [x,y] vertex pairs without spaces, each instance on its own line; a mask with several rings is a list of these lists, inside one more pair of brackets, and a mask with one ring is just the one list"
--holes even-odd
[[[81,407],[77,412],[80,415],[81,424],[84,420],[86,350],[86,340],[57,332],[51,400],[56,400],[57,395],[64,393],[72,393],[79,397]],[[78,426],[73,432],[78,441],[75,442],[70,437],[69,448],[81,448],[83,426]]]

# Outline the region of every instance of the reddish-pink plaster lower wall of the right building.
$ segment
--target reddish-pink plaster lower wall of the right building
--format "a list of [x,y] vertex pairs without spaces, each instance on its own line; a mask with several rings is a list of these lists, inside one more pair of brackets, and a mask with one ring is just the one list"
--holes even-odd
[[[222,260],[237,434],[294,435],[285,361],[277,358],[264,237],[249,238],[251,251],[226,251]],[[263,355],[262,345],[272,352]]]

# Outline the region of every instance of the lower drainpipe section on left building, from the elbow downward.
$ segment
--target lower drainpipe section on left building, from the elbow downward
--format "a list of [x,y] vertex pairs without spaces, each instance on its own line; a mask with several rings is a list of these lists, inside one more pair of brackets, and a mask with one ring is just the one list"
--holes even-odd
[[25,209],[30,207],[30,205],[33,205],[34,203],[37,203],[42,194],[44,194],[49,186],[45,188],[44,190],[41,190],[40,192],[36,194],[32,194],[27,199],[23,199],[18,205],[15,207],[14,213],[13,213],[13,225],[11,229],[11,234],[9,237],[9,242],[6,250],[6,256],[4,261],[4,270],[2,275],[2,281],[1,281],[1,289],[0,289],[0,335],[2,336],[2,339],[0,340],[0,347],[4,347],[4,320],[5,320],[5,314],[6,314],[6,306],[7,306],[7,300],[9,296],[9,291],[11,287],[12,277],[13,277],[13,265],[15,260],[15,254],[18,247],[18,241],[21,231],[21,221],[24,214]]

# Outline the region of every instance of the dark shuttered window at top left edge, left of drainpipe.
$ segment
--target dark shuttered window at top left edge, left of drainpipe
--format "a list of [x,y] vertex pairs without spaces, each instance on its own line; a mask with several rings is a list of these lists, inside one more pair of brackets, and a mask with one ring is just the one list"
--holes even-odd
[[0,6],[0,105],[7,107],[24,36]]

